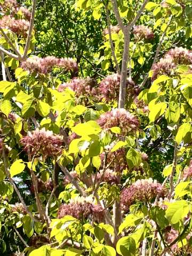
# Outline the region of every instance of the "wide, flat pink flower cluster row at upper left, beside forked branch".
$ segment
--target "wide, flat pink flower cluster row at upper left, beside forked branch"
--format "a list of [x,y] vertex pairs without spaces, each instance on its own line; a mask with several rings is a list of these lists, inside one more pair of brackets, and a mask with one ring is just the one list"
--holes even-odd
[[39,58],[34,56],[28,58],[26,61],[21,62],[21,68],[28,70],[30,73],[47,74],[52,68],[64,68],[67,71],[77,71],[77,63],[70,58],[56,58],[54,56],[48,56],[45,58]]

